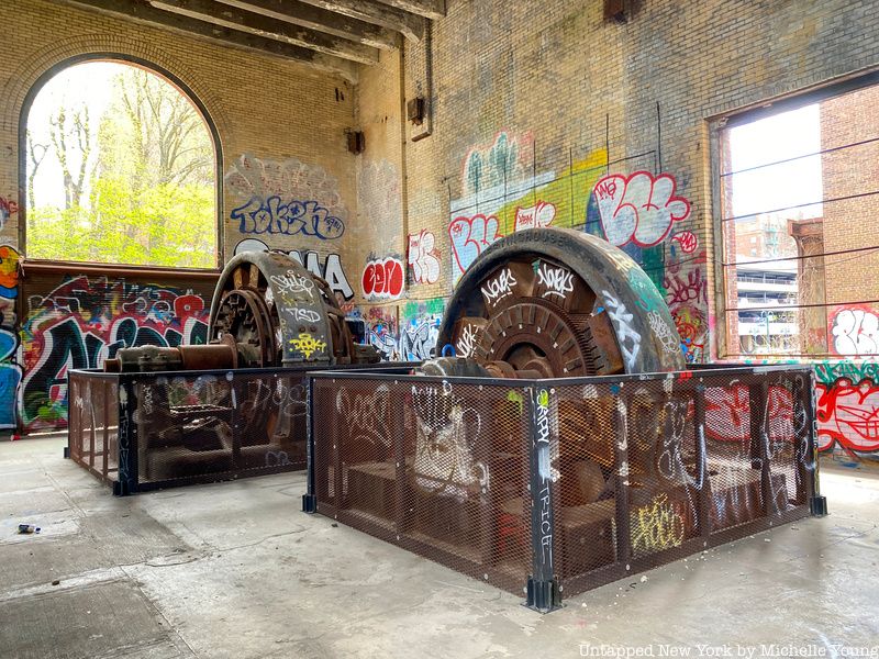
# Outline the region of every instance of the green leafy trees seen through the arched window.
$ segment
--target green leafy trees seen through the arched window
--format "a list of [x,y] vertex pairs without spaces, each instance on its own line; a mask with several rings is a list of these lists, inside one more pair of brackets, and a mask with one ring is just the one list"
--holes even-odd
[[[88,186],[85,174],[65,175],[66,208],[29,209],[29,256],[213,267],[214,157],[204,122],[177,89],[143,69],[126,66],[112,86],[114,100],[99,120]],[[69,112],[59,109],[53,116],[65,118],[53,120],[64,125]],[[71,150],[78,149],[85,164],[91,149],[88,112],[74,116],[71,125],[85,138],[53,138],[63,171],[64,163],[75,160]],[[70,180],[79,185],[68,188]]]

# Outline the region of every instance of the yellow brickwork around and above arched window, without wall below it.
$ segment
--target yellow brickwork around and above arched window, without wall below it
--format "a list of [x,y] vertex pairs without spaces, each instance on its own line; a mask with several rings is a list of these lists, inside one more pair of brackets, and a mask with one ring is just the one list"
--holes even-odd
[[[354,124],[355,90],[342,77],[43,0],[0,3],[0,23],[11,36],[0,57],[0,197],[18,198],[19,121],[29,90],[69,58],[113,53],[153,63],[192,90],[216,125],[223,175],[234,169],[242,155],[281,170],[294,158],[310,172],[326,172],[323,185],[312,188],[327,194],[335,188],[346,225],[356,222],[355,158],[346,149],[344,135]],[[246,237],[286,249],[325,252],[334,243],[302,234],[242,235],[240,223],[230,217],[246,201],[240,188],[225,187],[219,210],[226,256]],[[4,243],[18,244],[16,219],[0,234]],[[333,245],[333,249],[340,247]]]

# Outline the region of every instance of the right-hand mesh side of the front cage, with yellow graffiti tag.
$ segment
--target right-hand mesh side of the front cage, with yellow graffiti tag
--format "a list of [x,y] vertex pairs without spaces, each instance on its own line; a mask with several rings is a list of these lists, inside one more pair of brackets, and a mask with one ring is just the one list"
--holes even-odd
[[804,372],[550,391],[555,573],[566,593],[808,514]]

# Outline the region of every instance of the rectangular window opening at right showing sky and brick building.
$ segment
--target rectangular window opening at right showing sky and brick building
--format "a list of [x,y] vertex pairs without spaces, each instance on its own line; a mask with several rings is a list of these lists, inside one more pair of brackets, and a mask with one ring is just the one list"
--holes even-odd
[[879,86],[721,130],[727,357],[879,354]]

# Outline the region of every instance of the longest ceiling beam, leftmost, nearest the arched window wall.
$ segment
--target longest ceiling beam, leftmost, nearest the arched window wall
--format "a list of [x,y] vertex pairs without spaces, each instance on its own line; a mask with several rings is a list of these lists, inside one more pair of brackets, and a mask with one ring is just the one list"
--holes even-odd
[[232,45],[248,51],[256,51],[264,55],[275,55],[285,59],[300,62],[311,65],[324,71],[340,74],[347,80],[356,81],[358,65],[342,57],[324,55],[311,48],[285,44],[271,38],[256,36],[230,30],[220,25],[212,25],[203,21],[194,21],[185,16],[178,16],[156,9],[145,2],[137,0],[56,0],[80,9],[97,10],[101,13],[116,18],[130,19],[138,23],[159,26],[187,36],[199,36]]

